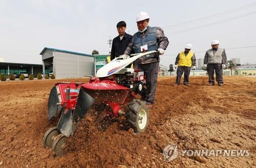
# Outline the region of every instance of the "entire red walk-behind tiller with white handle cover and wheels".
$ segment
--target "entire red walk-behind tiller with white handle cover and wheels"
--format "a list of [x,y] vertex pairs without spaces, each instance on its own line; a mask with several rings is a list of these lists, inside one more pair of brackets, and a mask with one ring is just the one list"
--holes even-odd
[[[139,53],[130,58],[130,61],[155,52],[157,51]],[[48,99],[48,120],[59,117],[57,114],[61,116],[57,126],[45,133],[44,146],[52,147],[58,156],[64,154],[65,138],[74,134],[79,121],[84,118],[92,105],[102,119],[106,117],[105,115],[114,118],[122,115],[126,123],[134,129],[134,134],[145,131],[150,120],[149,108],[146,101],[140,100],[138,96],[143,96],[146,90],[144,72],[139,69],[124,68],[125,66],[119,68],[120,61],[116,60],[102,67],[101,71],[98,70],[100,75],[91,77],[88,83],[55,84]],[[106,73],[115,66],[118,66],[118,71]]]

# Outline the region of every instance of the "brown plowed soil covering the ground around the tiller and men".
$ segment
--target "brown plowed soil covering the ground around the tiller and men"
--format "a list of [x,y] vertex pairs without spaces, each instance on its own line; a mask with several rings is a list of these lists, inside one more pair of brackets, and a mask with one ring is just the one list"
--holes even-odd
[[[42,137],[57,119],[47,120],[54,83],[88,79],[0,82],[0,167],[255,167],[256,77],[225,77],[223,87],[207,77],[190,77],[190,87],[174,87],[175,77],[158,79],[147,130],[134,135],[117,120],[99,123],[90,113],[56,157]],[[247,157],[180,156],[167,162],[163,148],[247,149]]]

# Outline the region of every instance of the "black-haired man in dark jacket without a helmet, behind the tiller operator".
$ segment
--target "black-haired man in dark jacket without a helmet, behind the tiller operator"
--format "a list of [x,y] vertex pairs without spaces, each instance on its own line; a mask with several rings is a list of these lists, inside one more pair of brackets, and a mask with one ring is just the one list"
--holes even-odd
[[125,21],[119,21],[116,25],[119,36],[113,39],[111,47],[111,60],[122,55],[128,44],[132,41],[133,36],[125,33]]

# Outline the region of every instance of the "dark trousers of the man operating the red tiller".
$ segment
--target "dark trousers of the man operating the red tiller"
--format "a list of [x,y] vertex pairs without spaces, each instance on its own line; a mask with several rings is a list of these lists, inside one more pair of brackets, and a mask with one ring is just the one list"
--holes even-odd
[[144,92],[144,100],[148,103],[154,103],[156,88],[157,88],[157,77],[158,77],[158,66],[159,62],[148,63],[148,64],[134,64],[134,68],[142,69],[146,76],[146,91]]

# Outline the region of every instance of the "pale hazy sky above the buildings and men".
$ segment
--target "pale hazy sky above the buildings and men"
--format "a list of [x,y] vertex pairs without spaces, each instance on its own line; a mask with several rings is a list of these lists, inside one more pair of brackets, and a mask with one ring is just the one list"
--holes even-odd
[[[40,51],[52,47],[82,53],[108,53],[116,23],[126,21],[126,32],[137,32],[140,11],[150,26],[159,26],[169,39],[160,64],[175,62],[191,43],[203,58],[212,40],[222,48],[256,46],[256,1],[0,1],[0,58],[6,62],[41,64]],[[209,17],[211,16],[211,17]],[[227,49],[227,57],[256,64],[256,47]]]

